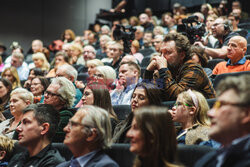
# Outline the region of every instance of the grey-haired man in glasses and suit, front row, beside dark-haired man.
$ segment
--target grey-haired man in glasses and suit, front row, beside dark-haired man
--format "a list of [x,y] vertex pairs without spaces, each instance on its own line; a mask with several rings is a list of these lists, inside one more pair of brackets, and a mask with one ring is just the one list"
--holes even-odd
[[118,167],[103,151],[111,138],[108,112],[95,106],[84,106],[70,119],[64,128],[64,144],[73,153],[71,161],[58,167]]

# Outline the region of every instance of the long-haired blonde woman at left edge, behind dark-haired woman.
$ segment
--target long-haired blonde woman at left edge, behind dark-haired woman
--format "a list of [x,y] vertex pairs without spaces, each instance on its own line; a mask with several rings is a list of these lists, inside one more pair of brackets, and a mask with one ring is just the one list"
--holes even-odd
[[15,67],[5,68],[5,70],[1,73],[1,77],[6,78],[11,82],[12,89],[21,87],[21,82]]

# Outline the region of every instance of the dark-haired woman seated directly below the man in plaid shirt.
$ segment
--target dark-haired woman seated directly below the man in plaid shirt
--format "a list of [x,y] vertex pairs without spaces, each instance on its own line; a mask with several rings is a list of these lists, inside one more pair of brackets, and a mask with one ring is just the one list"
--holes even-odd
[[125,120],[120,122],[114,131],[113,142],[114,143],[128,143],[129,139],[126,138],[126,133],[131,127],[133,113],[140,107],[148,105],[161,105],[161,91],[150,82],[141,82],[136,85],[133,95],[131,97],[131,113]]

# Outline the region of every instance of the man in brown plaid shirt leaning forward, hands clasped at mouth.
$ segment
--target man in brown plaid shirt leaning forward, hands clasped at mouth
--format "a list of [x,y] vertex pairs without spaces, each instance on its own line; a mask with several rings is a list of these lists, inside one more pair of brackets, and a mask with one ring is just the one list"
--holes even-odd
[[211,81],[202,67],[191,60],[189,49],[186,36],[167,34],[161,48],[162,55],[153,57],[144,73],[144,79],[153,79],[154,71],[159,71],[159,78],[155,81],[163,88],[166,101],[176,100],[178,94],[188,89],[200,91],[206,98],[215,97]]

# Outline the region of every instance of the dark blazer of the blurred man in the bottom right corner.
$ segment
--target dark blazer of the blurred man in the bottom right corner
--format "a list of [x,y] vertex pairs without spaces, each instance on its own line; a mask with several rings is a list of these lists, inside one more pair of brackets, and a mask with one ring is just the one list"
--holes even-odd
[[235,145],[226,149],[213,151],[203,156],[195,167],[214,167],[217,164],[217,157],[226,153],[221,167],[249,167],[250,166],[250,135]]

